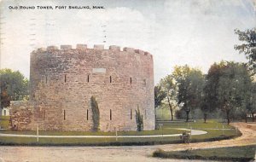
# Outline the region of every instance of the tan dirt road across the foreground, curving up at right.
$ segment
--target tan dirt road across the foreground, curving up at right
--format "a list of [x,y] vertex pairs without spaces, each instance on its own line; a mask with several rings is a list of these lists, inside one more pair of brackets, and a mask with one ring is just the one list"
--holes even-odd
[[242,136],[219,142],[125,147],[0,147],[0,162],[187,161],[184,159],[157,159],[150,157],[150,155],[157,148],[173,151],[188,148],[219,148],[256,144],[256,124],[239,123],[236,126],[241,130]]

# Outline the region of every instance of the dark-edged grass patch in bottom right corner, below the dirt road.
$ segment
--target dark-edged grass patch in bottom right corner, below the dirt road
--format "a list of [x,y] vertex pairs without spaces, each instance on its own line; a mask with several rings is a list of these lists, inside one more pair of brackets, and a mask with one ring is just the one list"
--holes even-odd
[[254,158],[255,151],[256,145],[230,148],[196,149],[175,152],[165,152],[159,149],[153,153],[153,156],[169,159],[212,159],[250,161]]

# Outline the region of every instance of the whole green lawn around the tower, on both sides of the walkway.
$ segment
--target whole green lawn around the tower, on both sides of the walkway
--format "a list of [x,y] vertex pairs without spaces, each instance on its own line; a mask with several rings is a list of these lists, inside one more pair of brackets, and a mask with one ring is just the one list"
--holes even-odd
[[[3,120],[0,121],[3,123]],[[158,125],[158,124],[157,124]],[[172,122],[163,123],[163,129],[159,130],[145,130],[141,132],[137,131],[119,131],[118,136],[131,136],[131,135],[167,135],[167,134],[179,134],[183,130],[176,130],[177,128],[198,129],[206,130],[206,135],[192,136],[191,142],[204,142],[227,139],[234,136],[239,136],[240,132],[234,129],[231,130],[208,130],[222,128],[223,124],[216,122],[215,120],[209,121],[204,124],[202,121],[193,123],[184,122]],[[230,125],[224,124],[224,128],[232,128]],[[36,135],[35,131],[11,131],[1,130],[0,133],[11,134],[26,134]],[[223,136],[224,133],[224,136]],[[55,135],[55,136],[115,136],[115,132],[79,132],[79,131],[39,131],[39,135]],[[166,143],[179,143],[182,142],[178,136],[172,137],[139,137],[139,138],[39,138],[37,142],[36,137],[0,137],[0,144],[2,145],[81,145],[81,146],[107,146],[107,145],[153,145],[153,144],[166,144]]]

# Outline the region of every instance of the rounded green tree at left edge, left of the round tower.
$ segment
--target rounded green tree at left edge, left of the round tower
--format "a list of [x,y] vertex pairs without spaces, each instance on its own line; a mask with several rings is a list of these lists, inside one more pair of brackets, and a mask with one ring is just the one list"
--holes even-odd
[[19,71],[13,72],[11,69],[1,69],[0,91],[2,107],[9,107],[9,101],[27,98],[28,80]]

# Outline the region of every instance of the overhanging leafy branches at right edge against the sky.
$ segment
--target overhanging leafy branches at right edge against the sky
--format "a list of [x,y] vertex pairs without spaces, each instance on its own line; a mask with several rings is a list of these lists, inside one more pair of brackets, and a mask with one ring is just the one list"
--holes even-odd
[[242,32],[238,29],[235,30],[238,39],[242,42],[240,45],[235,45],[235,49],[239,53],[247,56],[248,66],[253,72],[256,72],[256,28],[247,29]]

